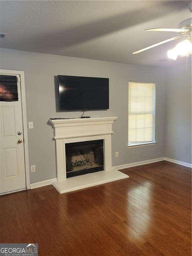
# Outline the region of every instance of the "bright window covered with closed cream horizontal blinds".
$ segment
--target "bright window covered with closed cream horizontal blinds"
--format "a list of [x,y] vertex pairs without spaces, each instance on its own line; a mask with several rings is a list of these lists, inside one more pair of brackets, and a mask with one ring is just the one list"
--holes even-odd
[[155,83],[129,82],[128,147],[155,142]]

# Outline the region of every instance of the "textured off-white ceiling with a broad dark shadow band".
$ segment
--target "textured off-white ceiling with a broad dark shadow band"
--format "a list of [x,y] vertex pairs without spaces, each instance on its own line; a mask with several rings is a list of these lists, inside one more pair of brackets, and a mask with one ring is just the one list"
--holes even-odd
[[[0,47],[121,63],[173,66],[167,50],[179,40],[132,55],[178,35],[145,32],[191,17],[189,1],[0,1]],[[162,59],[164,61],[162,61]]]

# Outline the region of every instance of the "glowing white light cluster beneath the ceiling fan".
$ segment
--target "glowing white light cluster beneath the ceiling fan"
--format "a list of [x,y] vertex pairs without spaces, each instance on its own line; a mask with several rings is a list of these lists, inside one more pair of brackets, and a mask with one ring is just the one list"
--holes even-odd
[[192,43],[190,40],[186,39],[181,43],[178,43],[173,49],[167,51],[167,57],[169,59],[176,60],[177,57],[180,55],[186,56],[192,52]]

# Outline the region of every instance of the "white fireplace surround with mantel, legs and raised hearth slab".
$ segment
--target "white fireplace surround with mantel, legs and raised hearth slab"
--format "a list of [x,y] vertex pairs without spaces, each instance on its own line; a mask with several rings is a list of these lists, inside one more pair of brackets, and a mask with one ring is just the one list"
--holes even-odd
[[[112,123],[116,119],[117,117],[50,119],[56,141],[57,181],[53,182],[53,186],[60,193],[129,177],[112,168],[111,135]],[[66,178],[65,144],[101,139],[104,141],[104,171]]]

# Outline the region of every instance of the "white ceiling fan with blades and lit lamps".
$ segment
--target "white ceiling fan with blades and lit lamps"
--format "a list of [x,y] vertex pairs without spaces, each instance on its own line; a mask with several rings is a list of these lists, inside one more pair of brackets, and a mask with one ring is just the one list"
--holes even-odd
[[169,50],[167,52],[167,56],[170,59],[176,60],[178,56],[188,56],[192,54],[192,18],[186,19],[179,23],[178,28],[150,28],[146,29],[145,31],[166,31],[166,32],[176,32],[180,35],[169,38],[167,40],[164,40],[162,42],[159,42],[157,44],[153,44],[151,46],[148,46],[146,48],[143,48],[139,51],[133,52],[133,54],[140,53],[143,51],[146,51],[150,48],[153,48],[155,46],[167,43],[172,40],[176,40],[182,37],[187,37],[184,41],[178,43],[173,49]]

